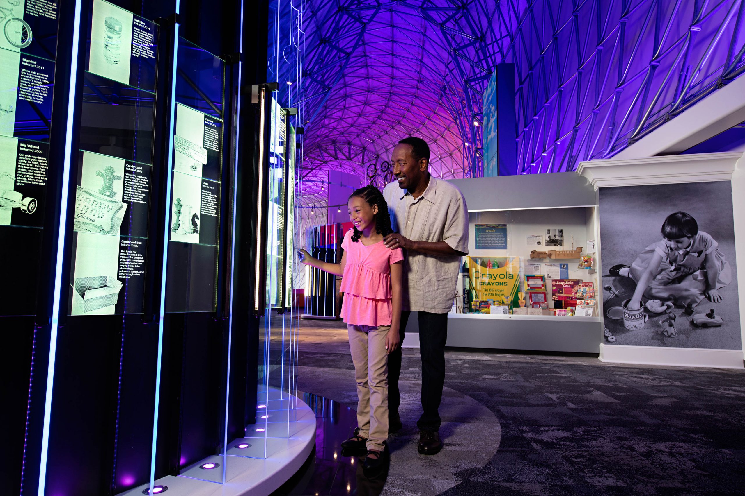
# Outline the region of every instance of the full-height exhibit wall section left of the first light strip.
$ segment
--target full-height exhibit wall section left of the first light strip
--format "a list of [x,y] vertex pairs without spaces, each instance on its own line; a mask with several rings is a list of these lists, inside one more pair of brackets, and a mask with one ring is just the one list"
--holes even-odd
[[[61,18],[61,19],[60,19]],[[54,245],[67,123],[69,65],[57,37],[69,38],[70,16],[57,4],[7,2],[0,8],[0,260],[7,284],[0,299],[0,329],[7,359],[0,367],[3,424],[0,486],[19,492],[25,460],[38,459],[29,443],[41,442],[44,391],[31,397],[29,371],[44,376],[48,355],[51,280],[48,253]],[[62,42],[60,42],[60,45]],[[54,115],[54,120],[52,119]],[[39,379],[36,379],[37,384]],[[43,382],[43,381],[42,381]],[[34,409],[31,409],[31,405]],[[7,476],[6,476],[7,474]],[[25,474],[35,480],[37,474]]]

